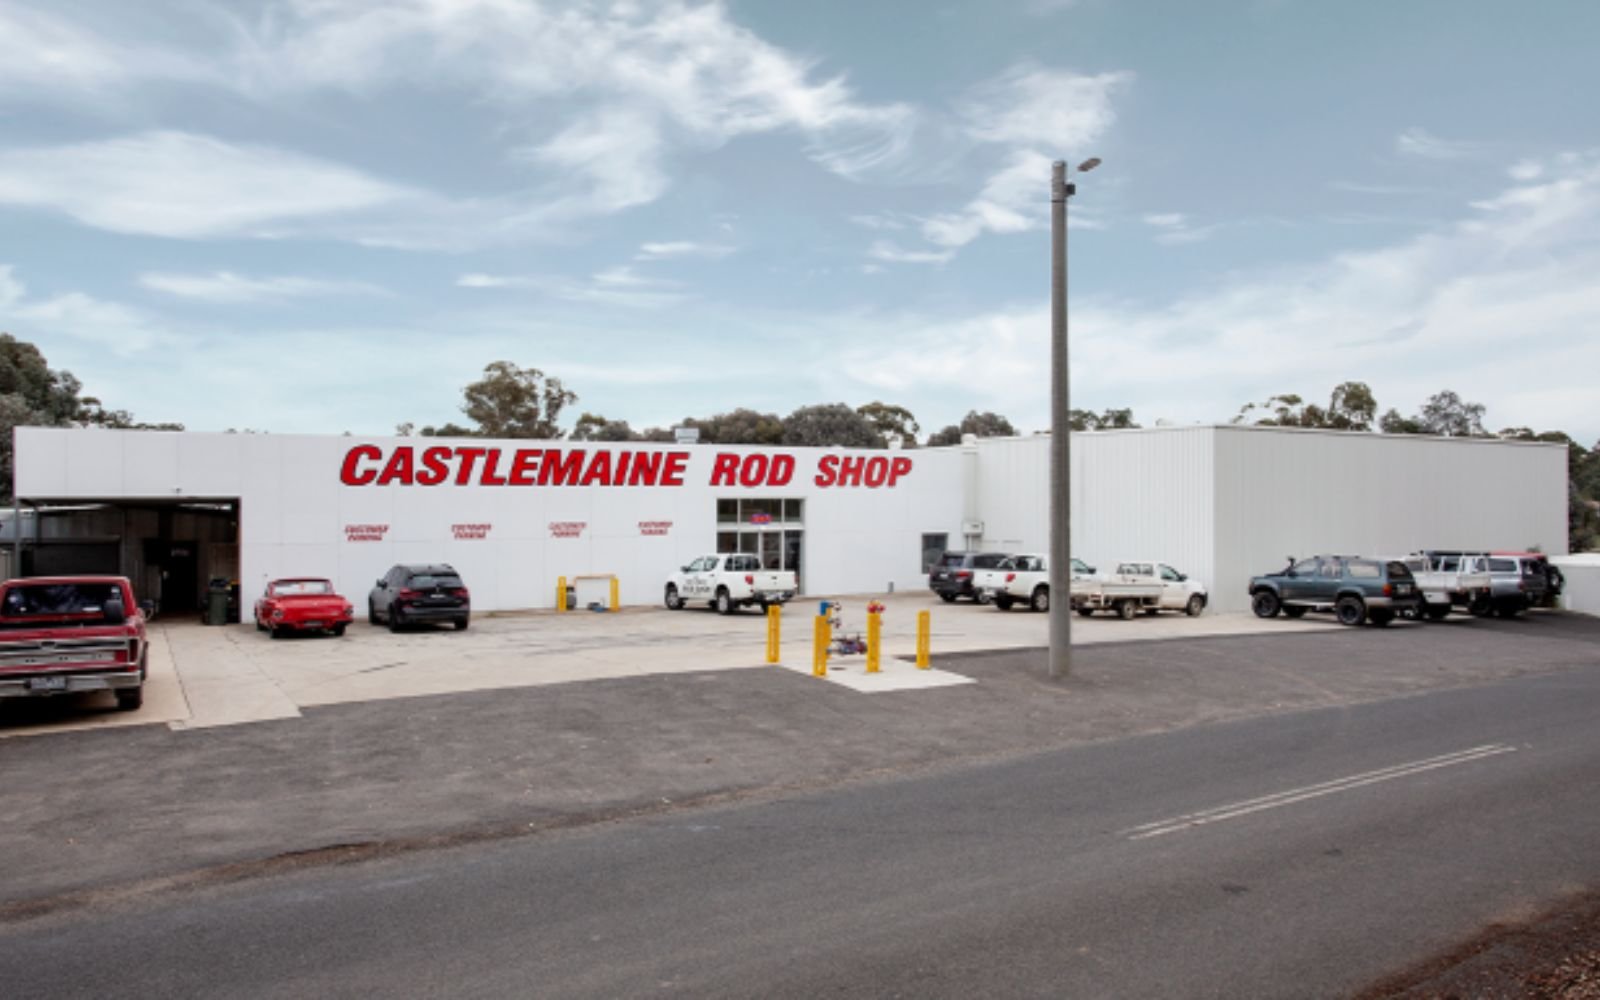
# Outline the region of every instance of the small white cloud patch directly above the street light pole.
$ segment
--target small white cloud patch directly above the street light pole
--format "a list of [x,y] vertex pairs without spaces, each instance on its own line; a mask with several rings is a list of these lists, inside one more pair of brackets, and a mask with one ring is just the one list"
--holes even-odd
[[1133,74],[1086,77],[1067,70],[1018,66],[973,90],[960,104],[966,131],[984,142],[1042,146],[1059,155],[1088,155],[1088,149],[1117,120],[1112,94]]

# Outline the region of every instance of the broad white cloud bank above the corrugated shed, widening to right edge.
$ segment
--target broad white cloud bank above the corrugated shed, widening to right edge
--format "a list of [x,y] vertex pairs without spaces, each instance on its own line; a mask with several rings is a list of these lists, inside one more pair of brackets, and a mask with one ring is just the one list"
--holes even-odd
[[[1384,248],[1237,274],[1165,304],[1077,299],[1074,392],[1086,406],[1133,406],[1146,422],[1216,422],[1253,398],[1325,398],[1363,379],[1402,413],[1454,389],[1486,403],[1496,427],[1600,437],[1600,157],[1549,168],[1542,184]],[[1043,302],[829,328],[858,344],[834,368],[869,387],[922,398],[958,387],[1019,426],[1048,421]]]

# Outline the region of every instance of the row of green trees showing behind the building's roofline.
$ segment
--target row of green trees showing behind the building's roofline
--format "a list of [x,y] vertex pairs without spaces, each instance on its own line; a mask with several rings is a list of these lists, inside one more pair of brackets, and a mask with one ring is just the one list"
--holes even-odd
[[[568,432],[562,418],[578,402],[562,379],[538,368],[494,362],[483,376],[462,389],[461,413],[470,424],[400,424],[408,437],[494,437],[568,438],[578,442],[672,442],[672,427],[634,429],[624,419],[584,411]],[[1278,394],[1261,403],[1246,403],[1232,418],[1235,424],[1312,427],[1331,430],[1429,434],[1443,437],[1496,437],[1566,445],[1568,542],[1573,550],[1600,547],[1600,442],[1584,446],[1562,430],[1531,427],[1485,429],[1486,408],[1461,398],[1453,390],[1430,395],[1416,413],[1405,416],[1390,408],[1379,413],[1366,382],[1334,386],[1326,403],[1296,394]],[[1133,410],[1072,410],[1074,430],[1117,430],[1139,427]],[[678,427],[694,427],[710,445],[790,445],[846,448],[902,448],[958,445],[963,435],[1014,437],[1016,426],[992,411],[968,411],[957,424],[922,435],[922,426],[906,406],[872,402],[862,406],[818,403],[800,406],[787,416],[736,408],[710,416],[685,416]],[[126,410],[109,410],[101,400],[83,395],[82,382],[70,371],[51,370],[38,347],[0,333],[0,502],[11,501],[13,427],[112,427],[142,430],[182,430],[182,424],[136,421]]]

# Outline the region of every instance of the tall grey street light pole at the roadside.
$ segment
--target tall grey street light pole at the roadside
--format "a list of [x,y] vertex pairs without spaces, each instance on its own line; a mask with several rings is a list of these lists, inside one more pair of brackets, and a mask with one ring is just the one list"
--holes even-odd
[[[1078,163],[1078,171],[1099,158]],[[1050,171],[1050,677],[1072,674],[1072,392],[1067,382],[1067,184],[1061,160]]]

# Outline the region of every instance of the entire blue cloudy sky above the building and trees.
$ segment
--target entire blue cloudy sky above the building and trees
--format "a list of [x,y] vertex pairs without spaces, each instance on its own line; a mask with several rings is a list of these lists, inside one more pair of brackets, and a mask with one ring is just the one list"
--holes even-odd
[[461,421],[509,360],[1146,424],[1443,389],[1600,440],[1600,5],[0,0],[0,330],[194,430]]

